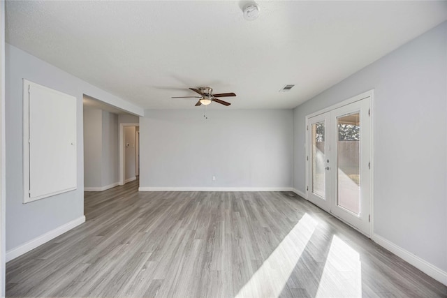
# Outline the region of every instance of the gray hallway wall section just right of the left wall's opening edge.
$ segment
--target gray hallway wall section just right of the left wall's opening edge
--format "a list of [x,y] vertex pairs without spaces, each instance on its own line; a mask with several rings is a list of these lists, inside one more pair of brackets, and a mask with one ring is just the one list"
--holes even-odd
[[101,186],[102,112],[84,110],[84,187]]

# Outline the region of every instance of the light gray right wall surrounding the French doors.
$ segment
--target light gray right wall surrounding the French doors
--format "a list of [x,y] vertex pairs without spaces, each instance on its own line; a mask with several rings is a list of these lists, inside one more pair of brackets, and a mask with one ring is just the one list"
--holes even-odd
[[375,89],[374,232],[447,270],[447,22],[294,110],[294,181],[305,192],[305,116]]

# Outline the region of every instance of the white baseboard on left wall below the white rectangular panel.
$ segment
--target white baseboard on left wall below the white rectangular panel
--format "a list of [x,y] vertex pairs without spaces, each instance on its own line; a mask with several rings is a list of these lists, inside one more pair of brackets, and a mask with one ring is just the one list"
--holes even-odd
[[57,236],[64,234],[64,232],[67,232],[68,230],[71,230],[81,223],[85,223],[85,216],[81,216],[79,218],[76,218],[73,221],[70,221],[64,225],[59,226],[58,228],[55,228],[54,230],[51,230],[50,232],[46,232],[45,234],[42,234],[39,237],[36,237],[34,239],[31,239],[24,244],[17,246],[16,248],[11,249],[10,251],[6,252],[6,262],[9,262],[10,260],[14,260],[15,258],[19,257],[20,255],[23,255],[24,253],[27,253],[37,246],[41,246],[47,241],[50,241],[51,239],[56,238]]

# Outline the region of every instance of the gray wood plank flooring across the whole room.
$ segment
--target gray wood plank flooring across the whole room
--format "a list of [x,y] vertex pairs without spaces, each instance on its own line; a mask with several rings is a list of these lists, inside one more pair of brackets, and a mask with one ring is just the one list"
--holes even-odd
[[8,297],[447,297],[293,193],[85,193],[87,222],[6,265]]

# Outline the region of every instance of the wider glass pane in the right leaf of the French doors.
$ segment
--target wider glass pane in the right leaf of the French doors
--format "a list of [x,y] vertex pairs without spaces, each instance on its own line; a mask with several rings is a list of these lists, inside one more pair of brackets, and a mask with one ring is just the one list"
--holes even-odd
[[337,117],[338,205],[360,214],[360,113]]

